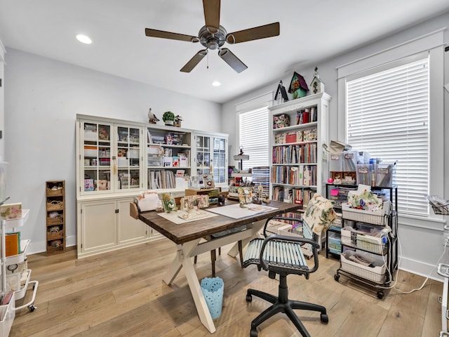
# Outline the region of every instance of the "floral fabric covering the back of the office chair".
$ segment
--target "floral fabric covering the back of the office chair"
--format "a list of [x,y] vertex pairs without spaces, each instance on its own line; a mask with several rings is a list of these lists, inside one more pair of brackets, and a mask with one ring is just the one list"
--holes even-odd
[[312,232],[319,235],[323,230],[326,231],[330,227],[330,224],[333,223],[333,220],[337,218],[333,207],[334,204],[332,201],[316,193],[307,204],[303,220]]

